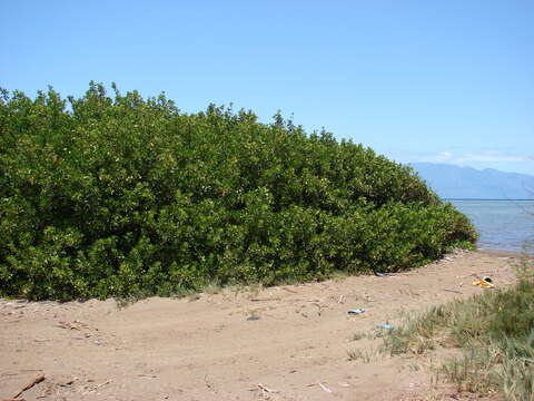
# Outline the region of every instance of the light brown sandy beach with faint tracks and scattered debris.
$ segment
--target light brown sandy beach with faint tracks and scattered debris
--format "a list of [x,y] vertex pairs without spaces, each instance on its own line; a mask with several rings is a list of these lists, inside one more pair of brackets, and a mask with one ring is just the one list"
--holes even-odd
[[[0,399],[453,400],[427,359],[349,361],[377,340],[356,332],[514,283],[518,254],[477,251],[379,276],[268,288],[235,287],[118,307],[0,301]],[[347,312],[364,309],[359,315]],[[459,397],[468,397],[463,394]]]

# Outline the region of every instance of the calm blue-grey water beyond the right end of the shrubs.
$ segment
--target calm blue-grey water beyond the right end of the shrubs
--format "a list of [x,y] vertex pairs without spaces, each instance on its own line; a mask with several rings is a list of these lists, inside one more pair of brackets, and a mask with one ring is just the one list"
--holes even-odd
[[478,229],[482,250],[534,253],[534,200],[448,200]]

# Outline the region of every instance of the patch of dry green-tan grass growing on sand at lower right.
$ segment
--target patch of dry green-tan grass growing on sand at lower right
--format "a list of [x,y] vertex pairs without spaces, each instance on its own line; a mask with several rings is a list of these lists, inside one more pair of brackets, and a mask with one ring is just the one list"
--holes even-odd
[[506,400],[534,400],[534,261],[525,257],[516,274],[518,284],[512,288],[407,316],[383,336],[380,351],[424,354],[436,346],[456,348],[459,355],[443,363],[438,374],[458,391],[501,391]]

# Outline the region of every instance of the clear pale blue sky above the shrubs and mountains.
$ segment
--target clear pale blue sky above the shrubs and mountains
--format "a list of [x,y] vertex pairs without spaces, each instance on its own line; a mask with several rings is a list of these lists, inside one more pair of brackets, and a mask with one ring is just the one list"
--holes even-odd
[[0,1],[0,86],[280,109],[398,162],[534,175],[534,1]]

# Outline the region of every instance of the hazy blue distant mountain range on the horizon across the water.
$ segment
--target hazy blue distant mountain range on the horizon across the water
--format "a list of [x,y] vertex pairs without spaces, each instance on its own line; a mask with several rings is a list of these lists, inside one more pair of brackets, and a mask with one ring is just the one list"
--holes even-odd
[[534,199],[534,176],[531,175],[448,164],[411,165],[442,198]]

